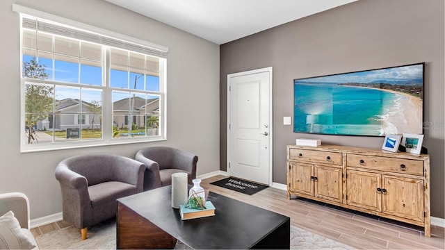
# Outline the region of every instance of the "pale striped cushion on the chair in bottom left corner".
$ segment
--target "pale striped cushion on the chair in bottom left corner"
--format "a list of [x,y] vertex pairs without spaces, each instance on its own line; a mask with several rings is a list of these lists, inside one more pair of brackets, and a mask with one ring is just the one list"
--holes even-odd
[[35,239],[34,237],[30,238],[28,233],[31,232],[20,227],[13,211],[9,211],[0,217],[0,249],[35,248]]

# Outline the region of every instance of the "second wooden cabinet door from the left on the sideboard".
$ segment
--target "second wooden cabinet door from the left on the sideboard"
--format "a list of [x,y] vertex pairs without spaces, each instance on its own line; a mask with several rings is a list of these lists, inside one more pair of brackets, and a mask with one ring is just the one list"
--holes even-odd
[[314,177],[316,197],[341,203],[341,168],[315,165]]

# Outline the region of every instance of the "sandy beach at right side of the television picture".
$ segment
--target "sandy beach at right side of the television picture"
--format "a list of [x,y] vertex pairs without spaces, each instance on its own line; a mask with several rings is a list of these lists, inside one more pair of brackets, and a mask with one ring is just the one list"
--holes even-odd
[[402,133],[422,133],[422,99],[411,94],[394,90],[383,90],[401,96],[398,103],[392,106],[388,116],[384,119],[383,131],[385,134],[395,135]]

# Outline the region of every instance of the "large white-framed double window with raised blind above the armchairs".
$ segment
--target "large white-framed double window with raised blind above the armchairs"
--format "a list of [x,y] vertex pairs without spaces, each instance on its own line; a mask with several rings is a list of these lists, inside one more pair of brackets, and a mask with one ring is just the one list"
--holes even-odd
[[165,140],[168,49],[21,18],[22,151]]

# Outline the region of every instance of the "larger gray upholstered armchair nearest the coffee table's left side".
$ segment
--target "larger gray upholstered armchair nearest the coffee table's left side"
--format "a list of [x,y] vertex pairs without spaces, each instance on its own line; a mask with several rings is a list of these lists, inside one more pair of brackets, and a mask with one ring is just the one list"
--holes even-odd
[[145,165],[131,158],[112,155],[72,156],[56,167],[62,190],[63,219],[87,228],[115,217],[116,199],[143,191]]

